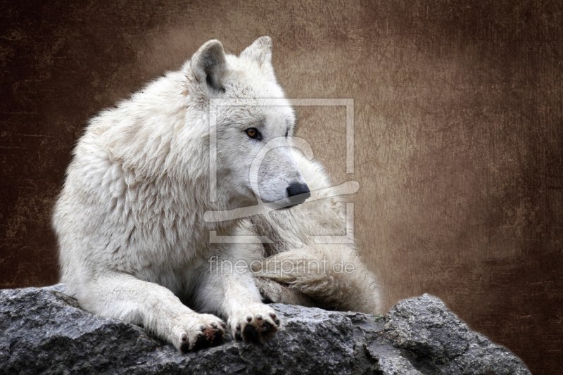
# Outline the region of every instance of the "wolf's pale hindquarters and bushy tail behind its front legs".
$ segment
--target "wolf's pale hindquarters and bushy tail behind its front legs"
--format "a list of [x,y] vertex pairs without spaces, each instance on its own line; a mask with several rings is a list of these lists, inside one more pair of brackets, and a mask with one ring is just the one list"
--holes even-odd
[[[308,160],[298,151],[294,152],[294,157],[312,191],[331,186],[319,163]],[[313,239],[319,235],[353,237],[353,233],[346,231],[345,217],[346,206],[339,197],[305,201],[289,210],[270,212],[270,220],[289,231],[293,239],[301,240],[301,247],[282,238],[265,217],[251,217],[252,224],[246,225],[252,225],[257,234],[273,241],[265,244],[270,258],[253,264],[262,293],[278,303],[368,314],[383,312],[377,277],[360,260],[355,244],[316,243]],[[343,272],[339,264],[350,265],[349,272]],[[281,286],[272,284],[272,281],[281,283]],[[308,298],[303,299],[303,294]]]

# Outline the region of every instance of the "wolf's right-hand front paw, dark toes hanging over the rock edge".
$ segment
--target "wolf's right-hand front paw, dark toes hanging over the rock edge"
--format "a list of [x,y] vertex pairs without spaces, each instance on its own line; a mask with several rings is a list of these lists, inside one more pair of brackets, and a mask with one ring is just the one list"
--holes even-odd
[[234,338],[246,343],[263,343],[275,336],[279,318],[272,307],[262,303],[241,310],[229,318]]

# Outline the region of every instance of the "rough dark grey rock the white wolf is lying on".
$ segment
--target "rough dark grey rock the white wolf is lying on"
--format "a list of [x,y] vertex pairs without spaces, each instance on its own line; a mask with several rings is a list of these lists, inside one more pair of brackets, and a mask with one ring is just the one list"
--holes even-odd
[[139,326],[84,312],[64,291],[0,291],[0,374],[530,374],[426,294],[382,318],[273,305],[283,328],[265,345],[227,337],[181,355]]

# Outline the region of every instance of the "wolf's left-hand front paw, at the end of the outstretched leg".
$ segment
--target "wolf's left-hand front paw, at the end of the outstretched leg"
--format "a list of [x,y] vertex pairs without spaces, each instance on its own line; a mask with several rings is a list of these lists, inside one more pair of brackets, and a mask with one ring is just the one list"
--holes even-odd
[[172,343],[181,352],[200,350],[223,342],[224,322],[211,314],[185,314],[176,319]]

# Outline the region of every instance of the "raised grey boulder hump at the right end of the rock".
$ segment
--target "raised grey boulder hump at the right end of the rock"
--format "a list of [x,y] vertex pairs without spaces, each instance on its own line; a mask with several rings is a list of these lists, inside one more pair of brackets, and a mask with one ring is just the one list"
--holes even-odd
[[397,303],[385,335],[422,374],[530,374],[512,352],[472,332],[428,294]]

